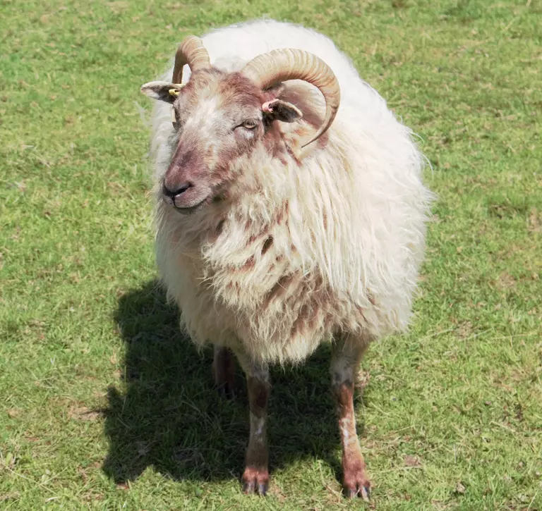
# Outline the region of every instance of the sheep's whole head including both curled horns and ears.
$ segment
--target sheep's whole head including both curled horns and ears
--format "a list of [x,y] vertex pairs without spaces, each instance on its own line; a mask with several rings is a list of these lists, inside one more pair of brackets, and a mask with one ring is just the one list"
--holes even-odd
[[[191,78],[182,84],[186,64]],[[210,65],[200,39],[185,39],[176,53],[173,81],[141,87],[147,96],[172,106],[176,149],[162,183],[164,200],[188,212],[217,197],[234,179],[230,169],[236,161],[257,147],[269,147],[275,121],[302,117],[294,104],[279,98],[282,82],[294,79],[318,87],[326,101],[323,124],[309,144],[330,127],[339,106],[337,79],[323,61],[300,50],[275,50],[241,72],[224,73]]]

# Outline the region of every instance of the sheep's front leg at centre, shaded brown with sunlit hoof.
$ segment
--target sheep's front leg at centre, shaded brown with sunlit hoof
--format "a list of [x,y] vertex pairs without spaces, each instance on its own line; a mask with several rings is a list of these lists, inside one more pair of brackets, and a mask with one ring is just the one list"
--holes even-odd
[[265,495],[269,484],[267,468],[267,401],[271,391],[269,371],[236,352],[246,374],[248,405],[251,410],[251,436],[246,450],[245,471],[241,477],[243,493]]

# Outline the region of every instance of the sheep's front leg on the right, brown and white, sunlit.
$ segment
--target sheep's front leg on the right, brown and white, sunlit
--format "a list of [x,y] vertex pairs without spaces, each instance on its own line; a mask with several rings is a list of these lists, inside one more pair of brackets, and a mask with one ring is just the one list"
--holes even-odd
[[354,383],[367,343],[347,337],[333,347],[331,363],[332,393],[337,407],[342,443],[344,491],[348,497],[369,500],[371,483],[361,454],[354,415]]

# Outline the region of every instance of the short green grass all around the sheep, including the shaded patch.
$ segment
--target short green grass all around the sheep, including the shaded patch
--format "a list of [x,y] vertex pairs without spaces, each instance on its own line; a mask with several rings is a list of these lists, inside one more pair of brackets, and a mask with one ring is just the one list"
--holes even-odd
[[139,87],[183,36],[263,15],[330,35],[433,167],[416,319],[363,362],[368,507],[542,510],[540,0],[0,8],[1,510],[366,507],[325,347],[273,371],[272,487],[241,494],[246,394],[219,400],[155,281]]

